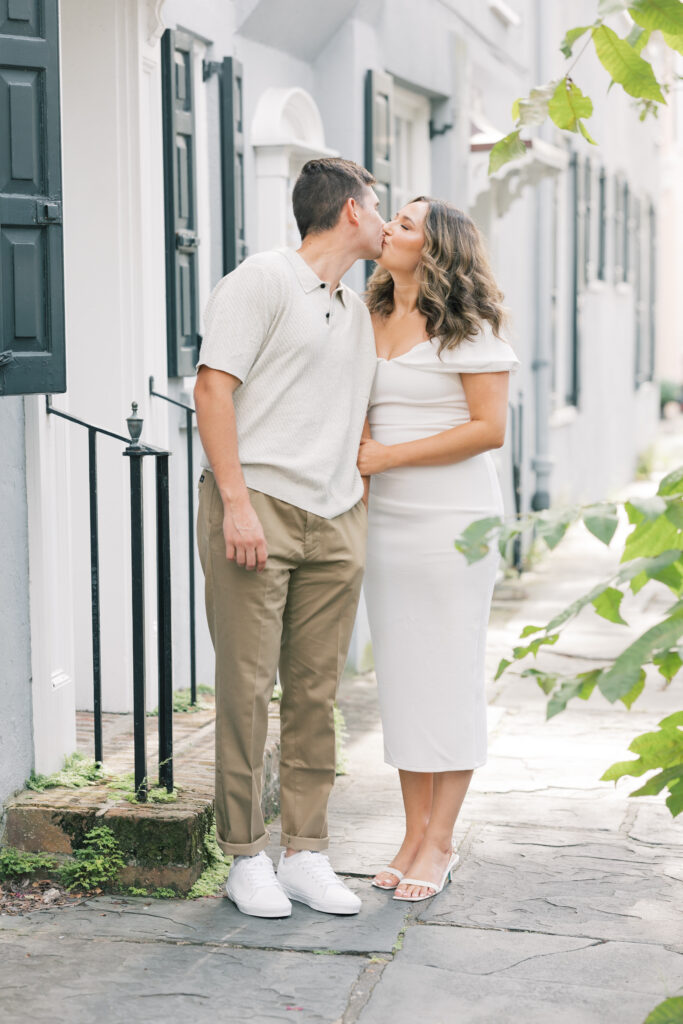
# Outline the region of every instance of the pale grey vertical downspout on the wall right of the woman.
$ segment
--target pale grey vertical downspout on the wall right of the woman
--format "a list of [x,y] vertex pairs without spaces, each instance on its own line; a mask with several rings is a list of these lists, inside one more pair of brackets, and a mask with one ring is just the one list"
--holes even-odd
[[[536,25],[536,78],[544,82],[543,47],[545,44],[543,0],[535,0]],[[552,361],[550,318],[546,296],[549,289],[544,287],[549,261],[544,259],[547,232],[544,232],[544,213],[548,212],[543,183],[533,189],[533,281],[536,282],[536,303],[533,310],[533,457],[531,469],[536,474],[531,509],[538,512],[550,508],[550,475],[554,459],[550,455],[550,413],[552,393]],[[544,238],[546,234],[546,238]],[[552,240],[554,244],[554,240]]]

